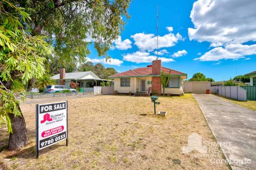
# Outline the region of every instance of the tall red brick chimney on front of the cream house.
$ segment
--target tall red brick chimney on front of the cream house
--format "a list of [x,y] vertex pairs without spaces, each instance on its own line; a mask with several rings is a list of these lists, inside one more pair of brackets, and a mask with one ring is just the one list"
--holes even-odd
[[[159,75],[162,70],[161,60],[154,60],[152,62],[152,74]],[[160,77],[152,78],[152,91],[157,91],[157,95],[161,95],[162,85]]]

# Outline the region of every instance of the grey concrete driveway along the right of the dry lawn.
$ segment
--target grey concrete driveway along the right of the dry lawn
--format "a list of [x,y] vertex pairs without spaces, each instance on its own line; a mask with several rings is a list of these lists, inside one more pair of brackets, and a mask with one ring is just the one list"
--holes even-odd
[[193,96],[231,168],[256,169],[256,112],[214,95]]

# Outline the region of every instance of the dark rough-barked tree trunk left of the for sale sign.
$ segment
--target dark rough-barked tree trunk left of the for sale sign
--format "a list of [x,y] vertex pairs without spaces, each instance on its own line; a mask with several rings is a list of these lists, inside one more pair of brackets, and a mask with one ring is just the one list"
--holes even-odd
[[[19,110],[21,111],[20,107]],[[13,133],[9,136],[9,146],[8,149],[17,149],[24,147],[28,144],[27,129],[25,119],[21,113],[21,116],[14,116],[14,114],[9,114],[11,119],[11,128],[13,128]]]

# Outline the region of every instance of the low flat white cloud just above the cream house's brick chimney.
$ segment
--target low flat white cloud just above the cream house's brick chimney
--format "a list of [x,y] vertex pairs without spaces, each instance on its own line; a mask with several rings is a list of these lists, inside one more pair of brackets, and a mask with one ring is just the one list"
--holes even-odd
[[[150,53],[147,52],[140,52],[137,51],[135,53],[128,53],[125,54],[123,56],[123,59],[126,61],[131,61],[131,62],[136,62],[137,64],[142,63],[142,62],[152,62],[153,60],[156,59],[156,56],[154,55],[150,55]],[[173,59],[169,59],[169,58],[159,58],[160,60],[162,60],[162,62],[170,62],[170,61],[174,61]]]

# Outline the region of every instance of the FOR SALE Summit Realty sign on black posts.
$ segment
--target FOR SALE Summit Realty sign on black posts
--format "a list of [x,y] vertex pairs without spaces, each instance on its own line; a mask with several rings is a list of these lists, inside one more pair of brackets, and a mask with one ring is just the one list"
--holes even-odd
[[57,142],[68,145],[68,102],[36,105],[36,158],[38,152]]

